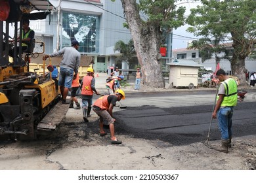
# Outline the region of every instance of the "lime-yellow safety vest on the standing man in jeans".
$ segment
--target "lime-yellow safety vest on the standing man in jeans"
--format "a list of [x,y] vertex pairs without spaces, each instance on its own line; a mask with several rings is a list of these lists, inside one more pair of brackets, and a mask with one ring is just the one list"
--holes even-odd
[[[232,78],[228,78],[227,80],[224,80],[221,83],[223,84],[226,92],[224,95],[223,102],[221,103],[221,106],[236,106],[236,103],[238,102],[238,89],[236,81]],[[218,99],[219,96],[217,96],[217,100]]]

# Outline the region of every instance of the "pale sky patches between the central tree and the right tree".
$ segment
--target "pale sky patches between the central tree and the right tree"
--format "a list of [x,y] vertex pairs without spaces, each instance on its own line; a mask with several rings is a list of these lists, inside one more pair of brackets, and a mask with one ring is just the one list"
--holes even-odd
[[[200,2],[188,2],[182,3],[180,6],[186,7],[186,12],[184,14],[187,17],[190,14],[190,8],[196,8],[200,5]],[[173,30],[173,49],[186,48],[189,41],[197,39],[192,33],[186,32],[189,25],[184,25],[178,29]]]

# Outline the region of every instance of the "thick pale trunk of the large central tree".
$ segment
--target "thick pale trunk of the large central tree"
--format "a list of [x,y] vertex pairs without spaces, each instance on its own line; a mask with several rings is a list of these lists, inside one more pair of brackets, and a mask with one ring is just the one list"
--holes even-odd
[[142,69],[142,83],[153,88],[164,88],[160,59],[160,27],[140,20],[136,0],[121,0],[137,58]]

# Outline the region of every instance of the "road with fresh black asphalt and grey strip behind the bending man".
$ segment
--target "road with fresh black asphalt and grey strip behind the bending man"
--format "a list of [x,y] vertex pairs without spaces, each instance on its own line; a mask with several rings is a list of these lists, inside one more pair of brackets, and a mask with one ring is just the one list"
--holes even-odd
[[[255,93],[234,108],[233,137],[256,134]],[[120,105],[127,108],[114,113],[116,131],[142,139],[160,139],[173,145],[205,141],[211,125],[210,140],[221,135],[216,119],[211,113],[216,93],[211,92],[162,92],[127,94]]]

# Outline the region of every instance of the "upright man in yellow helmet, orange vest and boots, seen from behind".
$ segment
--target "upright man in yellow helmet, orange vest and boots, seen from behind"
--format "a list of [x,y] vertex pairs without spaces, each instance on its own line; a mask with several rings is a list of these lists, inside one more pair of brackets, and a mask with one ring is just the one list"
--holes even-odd
[[93,104],[93,92],[98,95],[99,93],[95,88],[95,78],[93,77],[93,68],[87,69],[87,75],[83,77],[81,82],[81,95],[82,95],[82,107],[83,107],[83,120],[89,122],[87,118],[91,116],[91,105]]

